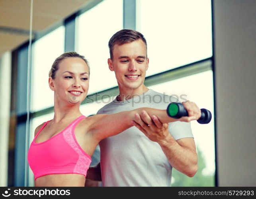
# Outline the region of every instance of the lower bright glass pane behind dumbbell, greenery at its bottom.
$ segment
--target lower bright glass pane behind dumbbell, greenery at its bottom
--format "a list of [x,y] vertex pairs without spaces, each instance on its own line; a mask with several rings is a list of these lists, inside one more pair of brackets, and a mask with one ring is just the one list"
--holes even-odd
[[[150,88],[175,96],[181,102],[194,101],[200,109],[206,108],[214,115],[213,72],[211,70],[150,86]],[[206,125],[192,121],[191,128],[197,146],[198,171],[193,178],[189,178],[173,169],[172,186],[215,186],[214,117]]]

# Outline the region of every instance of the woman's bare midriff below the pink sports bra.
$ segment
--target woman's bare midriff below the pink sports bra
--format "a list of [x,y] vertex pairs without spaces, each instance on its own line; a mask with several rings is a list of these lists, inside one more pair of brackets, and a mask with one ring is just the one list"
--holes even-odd
[[35,187],[84,187],[85,177],[81,174],[51,174],[35,180]]

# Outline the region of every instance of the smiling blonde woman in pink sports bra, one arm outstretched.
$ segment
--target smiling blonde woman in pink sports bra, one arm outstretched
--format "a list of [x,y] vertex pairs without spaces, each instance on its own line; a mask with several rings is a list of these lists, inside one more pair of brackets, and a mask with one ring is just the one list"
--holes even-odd
[[[49,73],[54,91],[54,117],[35,129],[28,162],[35,175],[35,186],[84,186],[91,156],[100,140],[121,133],[143,110],[162,123],[177,121],[166,110],[140,108],[112,115],[85,117],[79,110],[89,88],[90,69],[83,56],[75,52],[58,57]],[[199,109],[196,109],[199,111]],[[182,117],[191,121],[197,117]]]

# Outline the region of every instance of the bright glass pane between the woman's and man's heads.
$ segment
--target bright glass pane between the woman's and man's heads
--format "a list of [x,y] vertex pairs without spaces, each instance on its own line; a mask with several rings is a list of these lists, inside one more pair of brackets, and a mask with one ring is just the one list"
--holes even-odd
[[84,55],[90,64],[88,94],[117,86],[115,74],[110,72],[107,65],[107,59],[110,57],[108,41],[122,28],[123,1],[121,0],[104,0],[79,16],[76,51]]

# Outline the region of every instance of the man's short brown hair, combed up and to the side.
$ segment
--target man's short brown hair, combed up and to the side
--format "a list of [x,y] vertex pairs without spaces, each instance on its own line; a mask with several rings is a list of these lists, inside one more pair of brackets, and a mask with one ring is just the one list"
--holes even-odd
[[113,59],[113,47],[115,44],[122,45],[124,43],[130,43],[138,39],[141,39],[145,43],[147,48],[147,41],[144,38],[144,35],[139,33],[138,31],[131,29],[122,29],[116,32],[108,42],[110,58]]

